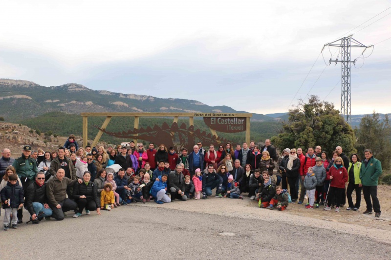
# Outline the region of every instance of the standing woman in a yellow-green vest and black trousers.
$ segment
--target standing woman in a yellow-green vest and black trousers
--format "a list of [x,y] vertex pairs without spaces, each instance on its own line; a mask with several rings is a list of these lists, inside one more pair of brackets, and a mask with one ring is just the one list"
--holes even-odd
[[[349,168],[348,168],[348,188],[346,190],[346,196],[348,197],[349,207],[346,210],[357,211],[360,208],[361,204],[361,190],[363,185],[360,180],[360,168],[361,160],[357,154],[352,154],[350,156]],[[353,204],[351,194],[353,191],[356,191],[356,204]]]

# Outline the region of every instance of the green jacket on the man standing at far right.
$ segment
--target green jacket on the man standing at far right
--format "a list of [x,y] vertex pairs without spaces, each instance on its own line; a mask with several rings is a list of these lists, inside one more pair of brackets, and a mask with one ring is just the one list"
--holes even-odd
[[382,164],[380,160],[373,156],[367,162],[364,160],[361,163],[360,179],[364,186],[377,186],[379,176],[382,174]]

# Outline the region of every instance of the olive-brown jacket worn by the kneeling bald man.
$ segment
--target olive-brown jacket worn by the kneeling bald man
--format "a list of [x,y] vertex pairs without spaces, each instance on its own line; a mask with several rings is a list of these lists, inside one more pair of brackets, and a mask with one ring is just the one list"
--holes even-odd
[[57,179],[57,176],[53,176],[46,183],[46,198],[48,204],[51,207],[57,206],[59,203],[66,198],[66,188],[75,184],[77,180],[71,180],[64,177],[63,180]]

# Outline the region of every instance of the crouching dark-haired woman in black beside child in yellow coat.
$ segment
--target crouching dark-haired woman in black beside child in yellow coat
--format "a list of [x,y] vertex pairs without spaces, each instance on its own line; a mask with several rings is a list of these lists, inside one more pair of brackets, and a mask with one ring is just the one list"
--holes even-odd
[[86,214],[91,214],[90,210],[96,210],[98,215],[101,215],[100,207],[101,200],[98,198],[96,185],[90,181],[91,173],[86,171],[83,174],[83,182],[76,182],[73,186],[73,198],[78,205],[78,211],[73,218],[82,216],[83,209],[86,208]]

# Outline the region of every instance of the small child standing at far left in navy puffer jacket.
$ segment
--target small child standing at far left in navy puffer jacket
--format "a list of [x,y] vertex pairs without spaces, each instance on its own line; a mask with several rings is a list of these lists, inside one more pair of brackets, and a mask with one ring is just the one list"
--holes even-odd
[[9,230],[9,218],[12,213],[12,228],[18,228],[18,209],[23,207],[23,189],[18,183],[18,175],[8,176],[7,185],[0,191],[1,201],[3,203],[4,230]]

